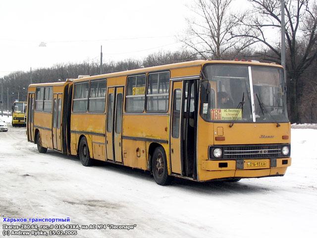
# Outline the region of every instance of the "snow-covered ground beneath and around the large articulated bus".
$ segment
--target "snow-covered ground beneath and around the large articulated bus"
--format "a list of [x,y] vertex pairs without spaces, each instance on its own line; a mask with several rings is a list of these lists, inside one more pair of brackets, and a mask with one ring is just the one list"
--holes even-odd
[[51,150],[39,154],[27,142],[25,127],[8,125],[0,133],[1,234],[3,216],[137,225],[129,231],[80,230],[78,238],[316,237],[315,129],[292,129],[293,160],[284,177],[237,183],[176,179],[159,186],[138,170],[103,163],[87,168]]

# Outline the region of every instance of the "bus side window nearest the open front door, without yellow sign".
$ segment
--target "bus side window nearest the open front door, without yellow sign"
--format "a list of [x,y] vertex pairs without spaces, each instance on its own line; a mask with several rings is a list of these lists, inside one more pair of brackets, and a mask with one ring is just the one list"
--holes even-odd
[[151,73],[148,80],[147,112],[168,110],[169,72]]

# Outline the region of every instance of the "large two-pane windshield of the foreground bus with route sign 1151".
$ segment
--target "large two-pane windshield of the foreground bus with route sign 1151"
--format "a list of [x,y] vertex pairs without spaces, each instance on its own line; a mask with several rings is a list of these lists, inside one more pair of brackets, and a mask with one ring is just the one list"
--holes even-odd
[[282,69],[215,64],[205,66],[204,75],[206,79],[201,84],[201,115],[205,120],[288,121]]

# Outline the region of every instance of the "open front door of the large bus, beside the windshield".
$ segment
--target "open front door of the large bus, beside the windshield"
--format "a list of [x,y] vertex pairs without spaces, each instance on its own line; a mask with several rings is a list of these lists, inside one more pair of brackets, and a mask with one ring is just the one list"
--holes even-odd
[[198,113],[198,80],[174,81],[170,155],[172,173],[197,177],[196,137]]

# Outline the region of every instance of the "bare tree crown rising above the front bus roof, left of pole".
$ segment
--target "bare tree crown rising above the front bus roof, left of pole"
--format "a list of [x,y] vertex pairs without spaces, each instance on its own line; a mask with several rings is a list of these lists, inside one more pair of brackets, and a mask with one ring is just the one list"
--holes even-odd
[[231,17],[232,0],[195,0],[190,9],[195,19],[187,19],[188,37],[182,39],[187,47],[202,58],[223,59],[237,44],[230,32],[243,15]]

